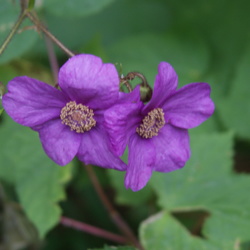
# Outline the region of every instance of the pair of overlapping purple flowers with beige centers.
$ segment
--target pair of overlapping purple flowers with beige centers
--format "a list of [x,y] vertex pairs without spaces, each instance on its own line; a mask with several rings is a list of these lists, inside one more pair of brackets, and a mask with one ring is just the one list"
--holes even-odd
[[[85,164],[126,171],[125,186],[142,189],[153,171],[182,168],[190,157],[188,130],[210,117],[214,104],[206,83],[177,89],[172,66],[158,66],[151,100],[140,88],[119,92],[113,64],[93,55],[70,58],[60,69],[60,90],[26,76],[8,83],[3,106],[17,123],[37,131],[47,155],[59,165],[76,156]],[[120,156],[128,146],[128,164]]]

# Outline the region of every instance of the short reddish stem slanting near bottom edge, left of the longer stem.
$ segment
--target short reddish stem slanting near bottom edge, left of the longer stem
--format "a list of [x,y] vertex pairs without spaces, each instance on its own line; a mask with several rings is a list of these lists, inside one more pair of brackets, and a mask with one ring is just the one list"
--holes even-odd
[[123,236],[117,235],[117,234],[113,234],[110,233],[106,230],[103,230],[101,228],[98,227],[94,227],[91,225],[88,225],[86,223],[83,222],[79,222],[67,217],[61,217],[60,223],[66,227],[71,227],[74,228],[76,230],[88,233],[88,234],[92,234],[107,240],[111,240],[120,244],[125,244],[127,243],[127,239],[124,238]]

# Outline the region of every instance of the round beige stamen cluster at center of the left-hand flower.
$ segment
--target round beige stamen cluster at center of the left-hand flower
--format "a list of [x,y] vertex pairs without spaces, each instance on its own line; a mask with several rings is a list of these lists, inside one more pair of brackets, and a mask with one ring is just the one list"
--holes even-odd
[[93,116],[93,110],[87,106],[76,104],[76,102],[68,102],[62,108],[60,118],[62,123],[68,125],[72,131],[84,133],[96,125]]

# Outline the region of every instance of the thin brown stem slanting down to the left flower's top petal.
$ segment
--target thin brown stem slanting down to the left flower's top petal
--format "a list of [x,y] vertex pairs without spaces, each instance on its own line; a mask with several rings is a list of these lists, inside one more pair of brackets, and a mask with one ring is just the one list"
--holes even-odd
[[47,28],[36,18],[31,12],[27,11],[26,16],[35,24],[35,26],[40,29],[47,37],[49,37],[62,51],[64,51],[68,56],[74,56],[74,53],[66,48],[53,34],[51,34]]

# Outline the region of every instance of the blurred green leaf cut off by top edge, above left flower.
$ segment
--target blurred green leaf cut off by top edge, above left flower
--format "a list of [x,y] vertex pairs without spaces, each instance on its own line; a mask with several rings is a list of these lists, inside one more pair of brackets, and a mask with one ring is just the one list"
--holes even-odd
[[71,18],[84,17],[95,14],[114,0],[45,0],[44,7],[50,13],[57,16]]

